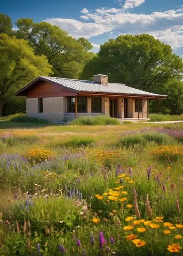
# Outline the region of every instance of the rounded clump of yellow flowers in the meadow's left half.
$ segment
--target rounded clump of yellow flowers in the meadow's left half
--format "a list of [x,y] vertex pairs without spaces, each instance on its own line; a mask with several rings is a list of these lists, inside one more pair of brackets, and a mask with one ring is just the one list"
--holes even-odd
[[34,147],[25,154],[25,157],[29,160],[31,164],[36,164],[43,162],[45,160],[49,160],[50,158],[53,158],[55,155],[55,151],[49,150],[47,148]]

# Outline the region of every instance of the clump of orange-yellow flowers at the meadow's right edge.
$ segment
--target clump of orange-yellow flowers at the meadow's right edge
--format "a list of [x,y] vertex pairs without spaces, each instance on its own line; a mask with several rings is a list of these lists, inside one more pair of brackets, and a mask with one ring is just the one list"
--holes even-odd
[[176,161],[183,156],[183,146],[161,146],[152,151],[154,157],[160,160]]

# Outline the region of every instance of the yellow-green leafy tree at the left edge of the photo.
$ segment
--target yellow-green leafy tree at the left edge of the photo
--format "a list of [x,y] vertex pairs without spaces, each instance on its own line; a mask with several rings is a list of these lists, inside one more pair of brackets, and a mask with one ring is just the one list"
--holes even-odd
[[0,34],[0,116],[3,104],[23,85],[52,73],[44,55],[36,56],[28,42]]

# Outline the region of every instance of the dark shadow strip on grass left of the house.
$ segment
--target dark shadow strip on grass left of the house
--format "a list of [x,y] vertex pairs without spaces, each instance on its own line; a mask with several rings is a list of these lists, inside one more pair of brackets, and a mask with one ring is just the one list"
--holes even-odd
[[8,120],[0,120],[0,129],[12,129],[12,128],[38,128],[38,127],[48,127],[56,126],[56,124],[38,124],[38,123],[17,123]]

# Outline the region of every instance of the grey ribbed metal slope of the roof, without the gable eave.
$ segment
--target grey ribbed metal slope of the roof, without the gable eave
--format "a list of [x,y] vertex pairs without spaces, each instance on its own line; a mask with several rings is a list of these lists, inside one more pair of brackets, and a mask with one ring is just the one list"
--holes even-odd
[[120,94],[136,94],[136,95],[147,95],[147,96],[165,96],[161,94],[154,94],[145,92],[136,88],[125,86],[123,83],[108,83],[107,86],[102,84],[95,83],[94,81],[87,80],[76,80],[68,78],[59,78],[59,77],[49,77],[49,76],[40,76],[45,80],[55,82],[67,88],[71,88],[78,92],[97,92],[97,93],[120,93]]

